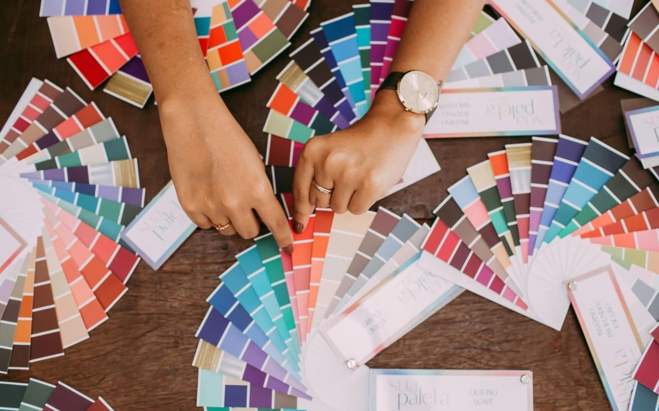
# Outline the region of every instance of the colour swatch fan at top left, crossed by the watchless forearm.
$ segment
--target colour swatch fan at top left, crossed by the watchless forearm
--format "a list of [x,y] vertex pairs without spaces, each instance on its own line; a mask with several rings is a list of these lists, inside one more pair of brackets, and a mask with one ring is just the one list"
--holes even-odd
[[[218,91],[250,81],[308,16],[310,0],[191,0],[194,26]],[[118,0],[42,0],[55,55],[90,89],[144,107],[152,94]],[[106,83],[107,81],[107,83]]]

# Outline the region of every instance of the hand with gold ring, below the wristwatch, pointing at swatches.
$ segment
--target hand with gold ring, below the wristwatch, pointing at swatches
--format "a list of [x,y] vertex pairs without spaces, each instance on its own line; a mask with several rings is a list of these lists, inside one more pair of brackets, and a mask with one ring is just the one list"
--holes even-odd
[[[405,112],[394,93],[378,93],[350,128],[310,139],[293,179],[293,227],[301,233],[314,207],[362,214],[387,195],[414,155],[425,116]],[[322,193],[314,185],[328,190]]]

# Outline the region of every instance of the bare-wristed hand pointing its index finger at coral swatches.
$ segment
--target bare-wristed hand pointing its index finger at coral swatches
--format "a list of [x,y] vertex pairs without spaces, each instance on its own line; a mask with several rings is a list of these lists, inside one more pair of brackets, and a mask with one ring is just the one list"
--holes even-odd
[[222,103],[215,89],[159,102],[169,171],[179,202],[201,228],[253,238],[254,211],[286,253],[293,234],[256,147]]

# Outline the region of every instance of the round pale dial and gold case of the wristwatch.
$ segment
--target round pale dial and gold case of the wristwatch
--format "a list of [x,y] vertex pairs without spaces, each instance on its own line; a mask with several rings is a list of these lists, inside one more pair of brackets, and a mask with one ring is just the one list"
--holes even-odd
[[437,106],[440,90],[434,78],[413,70],[407,72],[398,84],[398,97],[405,109],[416,113],[430,112]]

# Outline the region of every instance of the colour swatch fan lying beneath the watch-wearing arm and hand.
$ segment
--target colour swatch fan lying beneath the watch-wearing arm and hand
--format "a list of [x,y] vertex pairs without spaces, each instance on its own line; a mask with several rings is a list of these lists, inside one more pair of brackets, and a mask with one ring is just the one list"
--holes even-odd
[[[320,28],[311,31],[311,38],[290,54],[291,62],[277,76],[279,84],[267,103],[270,112],[263,129],[268,133],[264,153],[266,165],[271,166],[268,174],[288,208],[291,168],[297,165],[302,145],[314,136],[347,128],[366,113],[389,70],[412,4],[409,0],[396,0],[355,5],[353,12],[321,23]],[[475,107],[479,101],[498,98],[524,98],[528,102],[521,97],[526,93],[530,101],[537,97],[536,104],[549,105],[545,111],[548,118],[536,117],[534,132],[545,128],[546,133],[558,133],[555,92],[547,66],[540,65],[529,43],[519,39],[503,18],[494,20],[482,12],[444,84],[440,108],[424,134],[454,137],[524,133],[494,118],[481,122],[485,114],[476,108],[468,114],[474,118],[462,122],[467,126],[461,127],[453,120],[456,126],[447,127],[446,117],[464,116],[464,111],[453,114],[451,109],[444,110],[442,103],[454,99],[455,104],[447,101],[446,107]],[[492,124],[492,128],[476,130],[477,123]],[[538,126],[540,123],[542,126]],[[420,141],[403,178],[391,193],[438,170],[428,144]]]

